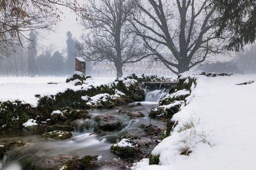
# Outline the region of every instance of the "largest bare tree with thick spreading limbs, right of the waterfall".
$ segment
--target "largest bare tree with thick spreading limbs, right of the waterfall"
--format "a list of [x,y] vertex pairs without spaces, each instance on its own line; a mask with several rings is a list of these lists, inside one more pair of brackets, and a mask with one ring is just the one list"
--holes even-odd
[[210,53],[220,53],[224,39],[216,37],[215,6],[208,0],[141,1],[134,15],[136,33],[173,73],[188,71]]

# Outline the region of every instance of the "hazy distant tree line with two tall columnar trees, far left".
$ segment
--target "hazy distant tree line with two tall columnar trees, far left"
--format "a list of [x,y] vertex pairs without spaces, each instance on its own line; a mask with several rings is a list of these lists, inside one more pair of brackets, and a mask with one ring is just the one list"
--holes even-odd
[[51,46],[38,55],[36,33],[29,34],[28,45],[15,46],[10,57],[0,59],[0,75],[8,76],[63,76],[74,72],[77,41],[67,32],[67,57]]

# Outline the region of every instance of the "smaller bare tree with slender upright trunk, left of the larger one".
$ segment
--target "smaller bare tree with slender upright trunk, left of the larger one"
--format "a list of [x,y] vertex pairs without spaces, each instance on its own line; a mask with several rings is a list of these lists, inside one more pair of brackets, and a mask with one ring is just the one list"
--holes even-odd
[[98,4],[90,0],[89,3],[92,20],[82,24],[90,33],[83,36],[83,45],[80,45],[86,59],[113,62],[116,76],[121,77],[124,64],[152,55],[144,55],[146,48],[131,30],[129,20],[136,10],[137,0],[100,0]]

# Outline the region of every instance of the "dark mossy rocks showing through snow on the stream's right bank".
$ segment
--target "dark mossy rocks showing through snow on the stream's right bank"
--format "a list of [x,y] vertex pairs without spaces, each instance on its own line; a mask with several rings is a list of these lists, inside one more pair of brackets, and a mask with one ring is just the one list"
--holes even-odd
[[[159,106],[157,106],[156,108],[152,108],[152,110],[150,110],[149,117],[164,119],[166,122],[165,129],[162,132],[162,139],[170,136],[173,132],[173,129],[175,129],[177,125],[179,125],[178,132],[186,131],[187,129],[193,129],[193,122],[191,122],[190,124],[180,125],[179,122],[175,122],[174,120],[172,120],[172,117],[173,115],[175,115],[175,113],[178,113],[180,110],[182,110],[182,108],[185,107],[193,98],[193,96],[191,96],[191,92],[196,87],[196,80],[198,76],[214,77],[230,75],[232,74],[205,73],[202,71],[199,71],[195,74],[179,74],[177,85],[175,86],[175,88],[170,90],[170,94],[167,94],[163,99],[159,101]],[[180,148],[179,152],[180,155],[189,156],[189,153],[192,153],[193,150],[191,150],[191,148],[189,147],[182,147]],[[160,157],[161,155],[159,154],[159,152],[153,150],[148,159],[148,164],[159,164]],[[134,166],[136,166],[136,164],[134,164]]]

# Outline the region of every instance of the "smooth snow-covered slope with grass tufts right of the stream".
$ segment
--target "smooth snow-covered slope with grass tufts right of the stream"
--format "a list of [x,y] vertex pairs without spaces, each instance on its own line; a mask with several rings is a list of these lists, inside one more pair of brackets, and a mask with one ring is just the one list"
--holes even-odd
[[[246,81],[255,82],[236,85]],[[143,159],[135,169],[256,169],[256,75],[198,76],[196,82],[189,104],[173,117],[179,125],[152,152],[161,166]]]

